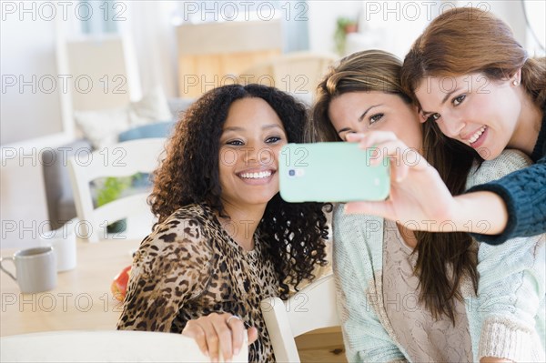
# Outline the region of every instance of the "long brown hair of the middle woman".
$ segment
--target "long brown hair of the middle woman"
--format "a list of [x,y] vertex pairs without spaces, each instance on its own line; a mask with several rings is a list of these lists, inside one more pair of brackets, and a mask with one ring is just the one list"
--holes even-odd
[[[319,83],[317,100],[308,120],[308,141],[340,141],[329,119],[329,105],[349,92],[379,91],[399,96],[408,105],[411,98],[400,83],[402,63],[380,50],[358,52],[339,61]],[[404,122],[404,120],[400,120]],[[462,145],[440,137],[440,129],[423,129],[424,156],[436,167],[452,194],[464,191],[473,156]],[[477,251],[467,233],[415,232],[418,253],[415,274],[420,280],[420,302],[433,318],[445,314],[455,324],[455,301],[462,300],[460,285],[470,278],[478,287]]]

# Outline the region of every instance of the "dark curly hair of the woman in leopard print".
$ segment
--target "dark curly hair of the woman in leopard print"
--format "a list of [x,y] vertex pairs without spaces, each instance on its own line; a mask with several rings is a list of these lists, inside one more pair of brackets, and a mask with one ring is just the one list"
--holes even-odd
[[[167,142],[167,156],[154,172],[148,204],[158,217],[157,224],[190,204],[207,204],[225,215],[220,198],[219,139],[229,107],[248,97],[259,97],[275,110],[288,142],[303,142],[307,110],[294,97],[261,85],[228,85],[208,91],[181,116]],[[316,265],[327,264],[325,207],[331,208],[319,203],[287,203],[279,194],[268,202],[257,231],[273,259],[281,298],[288,297],[290,286],[297,289],[302,280],[313,279]]]

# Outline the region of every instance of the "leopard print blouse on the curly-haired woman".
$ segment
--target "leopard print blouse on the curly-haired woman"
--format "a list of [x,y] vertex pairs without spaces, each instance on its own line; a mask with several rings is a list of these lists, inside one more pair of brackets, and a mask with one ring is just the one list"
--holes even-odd
[[275,361],[260,301],[278,296],[278,274],[262,244],[240,247],[210,207],[182,207],[136,252],[118,329],[180,333],[212,312],[238,315],[258,328],[251,362]]

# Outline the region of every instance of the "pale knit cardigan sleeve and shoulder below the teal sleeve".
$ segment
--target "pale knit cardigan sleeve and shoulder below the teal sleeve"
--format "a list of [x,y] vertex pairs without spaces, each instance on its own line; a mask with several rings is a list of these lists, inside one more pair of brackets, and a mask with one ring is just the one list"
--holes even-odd
[[[529,165],[515,151],[504,151],[470,177],[487,182]],[[546,235],[513,238],[499,246],[480,244],[478,306],[481,333],[478,358],[544,361]]]

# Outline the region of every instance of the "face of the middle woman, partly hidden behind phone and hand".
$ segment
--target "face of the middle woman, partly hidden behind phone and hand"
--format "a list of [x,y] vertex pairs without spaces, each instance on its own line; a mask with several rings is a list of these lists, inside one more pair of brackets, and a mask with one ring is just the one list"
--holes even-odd
[[393,132],[407,146],[422,148],[417,108],[394,94],[378,91],[342,94],[330,103],[329,119],[344,141],[350,133],[381,130]]

